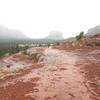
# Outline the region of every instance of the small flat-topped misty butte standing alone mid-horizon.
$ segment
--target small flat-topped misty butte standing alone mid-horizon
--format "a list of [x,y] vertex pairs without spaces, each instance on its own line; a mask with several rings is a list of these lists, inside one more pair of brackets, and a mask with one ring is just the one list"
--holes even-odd
[[63,34],[59,31],[51,31],[50,34],[46,37],[46,39],[51,39],[51,40],[62,40]]

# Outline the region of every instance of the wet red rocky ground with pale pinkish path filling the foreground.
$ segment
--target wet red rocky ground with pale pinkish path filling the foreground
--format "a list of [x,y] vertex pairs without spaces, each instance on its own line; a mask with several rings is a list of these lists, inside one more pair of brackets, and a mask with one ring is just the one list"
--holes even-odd
[[42,53],[38,63],[0,60],[0,100],[100,100],[100,49]]

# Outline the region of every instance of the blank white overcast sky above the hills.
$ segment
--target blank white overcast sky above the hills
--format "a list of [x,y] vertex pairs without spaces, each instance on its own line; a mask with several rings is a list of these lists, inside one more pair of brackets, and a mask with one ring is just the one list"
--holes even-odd
[[0,24],[32,38],[76,36],[100,24],[100,0],[0,0]]

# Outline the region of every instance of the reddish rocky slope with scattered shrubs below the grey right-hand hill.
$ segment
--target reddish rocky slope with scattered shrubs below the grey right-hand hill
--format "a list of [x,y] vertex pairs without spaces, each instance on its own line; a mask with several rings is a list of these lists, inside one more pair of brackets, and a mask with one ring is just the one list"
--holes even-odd
[[87,48],[100,48],[100,34],[88,33],[88,35],[83,35],[79,40],[74,38],[74,41],[65,41],[59,46],[55,46],[57,49],[64,50],[77,50],[77,49],[87,49]]

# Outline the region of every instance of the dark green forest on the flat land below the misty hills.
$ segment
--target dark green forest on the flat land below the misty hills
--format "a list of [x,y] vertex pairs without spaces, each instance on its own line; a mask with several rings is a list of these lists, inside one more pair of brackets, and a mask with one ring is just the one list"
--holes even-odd
[[[50,44],[60,44],[65,40],[48,40],[48,39],[27,39],[27,40],[0,40],[0,56],[5,55],[6,53],[14,54],[19,51],[26,50],[30,47],[30,44],[38,44],[38,46],[42,46],[42,44],[46,44],[50,46]],[[19,44],[25,45],[24,47],[19,47]]]

